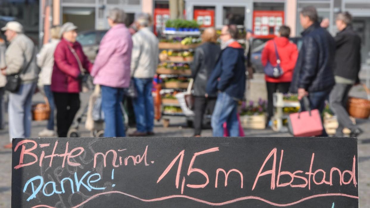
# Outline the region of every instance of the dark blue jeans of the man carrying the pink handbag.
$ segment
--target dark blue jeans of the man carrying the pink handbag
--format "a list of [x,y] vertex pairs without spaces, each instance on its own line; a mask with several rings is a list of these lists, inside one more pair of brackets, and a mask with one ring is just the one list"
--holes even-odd
[[[320,115],[322,115],[322,112],[325,108],[325,100],[329,98],[330,91],[332,91],[332,88],[326,90],[326,91],[319,91],[319,92],[309,92],[308,93],[308,99],[310,100],[310,107],[312,110],[317,109],[320,112]],[[301,106],[303,103],[301,102]],[[305,110],[304,107],[302,110]],[[320,137],[327,137],[327,133],[325,128],[323,127],[323,133],[320,135]]]

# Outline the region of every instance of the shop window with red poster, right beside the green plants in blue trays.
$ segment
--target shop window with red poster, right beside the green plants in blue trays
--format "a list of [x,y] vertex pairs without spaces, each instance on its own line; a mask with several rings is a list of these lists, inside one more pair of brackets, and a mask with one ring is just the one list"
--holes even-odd
[[215,7],[194,6],[193,18],[201,27],[215,27]]

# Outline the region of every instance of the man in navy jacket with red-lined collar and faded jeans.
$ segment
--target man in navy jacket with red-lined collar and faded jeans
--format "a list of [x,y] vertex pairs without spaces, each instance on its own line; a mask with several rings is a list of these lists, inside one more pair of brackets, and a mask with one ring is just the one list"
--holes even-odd
[[223,136],[223,123],[227,123],[230,136],[239,136],[237,118],[238,101],[245,92],[244,50],[236,41],[238,28],[226,25],[221,31],[221,54],[207,83],[207,93],[219,92],[212,115],[213,136]]

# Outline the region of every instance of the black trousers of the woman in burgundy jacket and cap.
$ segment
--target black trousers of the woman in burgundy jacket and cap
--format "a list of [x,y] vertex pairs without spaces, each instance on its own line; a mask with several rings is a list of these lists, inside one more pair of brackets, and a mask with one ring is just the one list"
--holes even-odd
[[80,94],[54,92],[53,95],[55,108],[57,109],[58,137],[67,137],[74,116],[80,109]]

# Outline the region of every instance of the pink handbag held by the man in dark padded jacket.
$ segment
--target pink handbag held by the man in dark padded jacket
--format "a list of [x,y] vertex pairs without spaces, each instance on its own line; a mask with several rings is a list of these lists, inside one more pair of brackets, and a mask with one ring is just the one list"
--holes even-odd
[[320,112],[317,109],[311,110],[307,97],[302,99],[307,111],[302,112],[301,106],[298,113],[289,115],[289,131],[295,137],[320,136],[323,133]]

